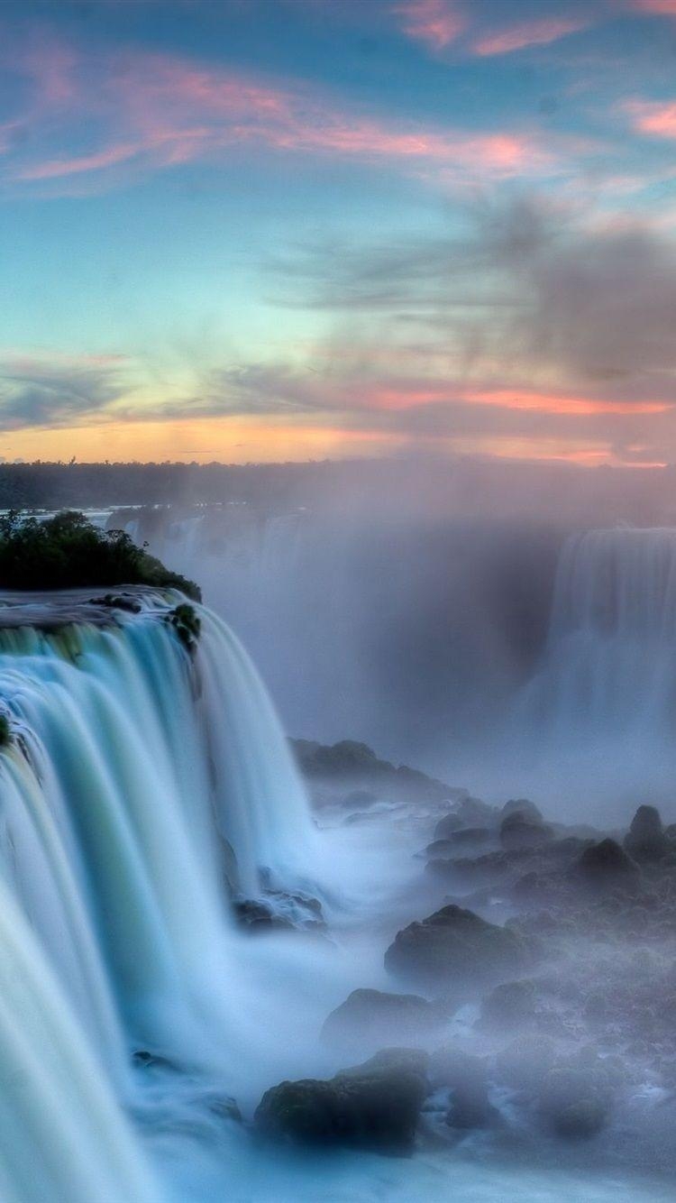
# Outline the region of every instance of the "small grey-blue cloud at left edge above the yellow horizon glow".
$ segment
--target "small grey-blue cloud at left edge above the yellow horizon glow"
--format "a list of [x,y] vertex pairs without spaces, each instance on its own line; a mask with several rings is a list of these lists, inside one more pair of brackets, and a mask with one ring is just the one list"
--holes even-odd
[[129,383],[121,356],[0,355],[0,429],[105,420]]

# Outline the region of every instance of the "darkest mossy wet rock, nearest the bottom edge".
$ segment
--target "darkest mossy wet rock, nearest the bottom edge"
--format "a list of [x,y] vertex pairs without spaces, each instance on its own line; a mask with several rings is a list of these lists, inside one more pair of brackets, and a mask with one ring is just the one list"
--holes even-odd
[[267,1136],[378,1152],[410,1152],[427,1092],[427,1055],[385,1049],[328,1080],[283,1081],[263,1095],[254,1121]]

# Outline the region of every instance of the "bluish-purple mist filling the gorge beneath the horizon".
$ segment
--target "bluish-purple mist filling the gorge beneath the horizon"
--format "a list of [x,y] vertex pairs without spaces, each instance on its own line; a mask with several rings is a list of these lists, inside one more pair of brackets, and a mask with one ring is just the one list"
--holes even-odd
[[634,798],[672,813],[669,482],[565,464],[326,464],[283,497],[263,469],[245,500],[108,523],[202,582],[290,735],[360,740],[496,799],[535,792],[568,818],[592,796],[619,818]]

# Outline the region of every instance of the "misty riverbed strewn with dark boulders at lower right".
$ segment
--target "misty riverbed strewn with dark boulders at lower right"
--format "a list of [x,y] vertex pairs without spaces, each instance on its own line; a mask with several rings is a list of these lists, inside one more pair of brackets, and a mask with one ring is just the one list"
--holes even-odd
[[[318,813],[368,828],[389,807],[403,822],[415,780],[362,747],[344,746],[346,780],[334,749],[304,748]],[[381,924],[386,977],[324,1019],[340,1068],[272,1086],[255,1126],[291,1144],[672,1174],[676,826],[646,805],[612,831],[567,826],[526,799],[446,787],[441,802],[439,786],[422,790],[409,919],[389,938]]]

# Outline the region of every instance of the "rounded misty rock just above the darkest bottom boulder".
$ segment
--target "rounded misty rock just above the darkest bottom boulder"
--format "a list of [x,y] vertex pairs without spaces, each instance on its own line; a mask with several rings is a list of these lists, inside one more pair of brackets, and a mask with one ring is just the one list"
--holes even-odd
[[447,1018],[446,1008],[417,994],[352,990],[326,1019],[321,1038],[330,1044],[372,1047],[425,1041]]

